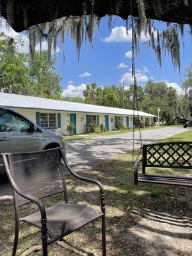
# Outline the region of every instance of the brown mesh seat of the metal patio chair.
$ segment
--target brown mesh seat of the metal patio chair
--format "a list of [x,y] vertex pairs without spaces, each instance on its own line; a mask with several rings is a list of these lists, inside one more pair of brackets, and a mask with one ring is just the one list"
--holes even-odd
[[[46,213],[48,234],[51,239],[66,236],[103,215],[86,205],[65,203],[47,208]],[[36,212],[20,220],[40,228],[40,219],[40,212]]]

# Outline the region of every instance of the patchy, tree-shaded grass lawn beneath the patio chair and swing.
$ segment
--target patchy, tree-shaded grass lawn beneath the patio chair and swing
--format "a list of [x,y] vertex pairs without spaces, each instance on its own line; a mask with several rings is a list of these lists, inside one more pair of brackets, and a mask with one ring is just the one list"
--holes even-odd
[[[191,140],[192,130],[178,134],[168,139],[172,140]],[[160,170],[166,175],[192,175],[192,170],[183,172],[183,170],[166,169]],[[184,220],[186,225],[190,223],[190,209],[188,196],[191,188],[179,186],[167,186],[159,184],[138,184],[133,182],[133,167],[131,153],[115,156],[106,161],[101,161],[92,170],[84,170],[83,176],[92,177],[100,180],[106,191],[106,227],[107,227],[107,255],[108,256],[143,256],[148,255],[150,248],[153,254],[166,256],[189,256],[191,255],[191,243],[187,239],[188,227],[182,224]],[[155,172],[155,170],[154,170]],[[69,202],[92,205],[98,211],[99,191],[97,187],[86,182],[79,182],[77,179],[66,175]],[[52,196],[45,199],[47,206],[56,204],[63,200],[62,196]],[[22,215],[30,214],[37,209],[31,207],[22,207]],[[14,207],[9,199],[0,197],[0,255],[11,256],[14,233]],[[147,221],[147,226],[141,221]],[[168,227],[168,231],[162,228]],[[132,232],[132,228],[140,228],[138,233]],[[155,225],[155,227],[154,227]],[[183,225],[183,226],[182,226]],[[177,226],[179,230],[175,229]],[[181,229],[182,227],[182,229]],[[148,237],[146,230],[151,230],[154,234]],[[143,236],[142,236],[143,234]],[[158,238],[161,234],[161,239]],[[182,234],[184,234],[182,236]],[[181,248],[177,247],[177,236],[181,236]],[[184,237],[185,236],[185,237]],[[68,246],[63,242],[49,246],[49,256],[101,256],[101,232],[100,221],[81,228],[67,236]],[[168,239],[168,243],[166,240]],[[170,244],[172,239],[175,243]],[[40,243],[40,230],[22,224],[20,227],[18,255],[40,256],[42,253],[31,252],[24,253],[33,244]],[[78,249],[80,248],[80,249]],[[86,252],[83,253],[83,252]]]

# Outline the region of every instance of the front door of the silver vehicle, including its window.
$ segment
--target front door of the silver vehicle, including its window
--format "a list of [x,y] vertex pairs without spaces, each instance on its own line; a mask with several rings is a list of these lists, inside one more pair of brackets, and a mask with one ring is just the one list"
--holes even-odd
[[38,150],[38,136],[32,123],[9,109],[0,109],[0,152]]

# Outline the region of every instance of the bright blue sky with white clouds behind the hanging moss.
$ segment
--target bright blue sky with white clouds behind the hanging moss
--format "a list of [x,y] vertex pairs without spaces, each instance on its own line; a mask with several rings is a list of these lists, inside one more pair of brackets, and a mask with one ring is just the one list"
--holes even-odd
[[[115,22],[114,22],[115,20]],[[0,32],[15,38],[24,40],[24,45],[20,45],[20,52],[28,52],[28,36],[26,33],[16,33],[12,28],[7,28],[5,22],[1,22]],[[163,22],[155,22],[156,26],[164,27]],[[136,56],[136,76],[138,84],[145,86],[148,79],[154,81],[165,81],[168,86],[172,86],[177,93],[182,93],[180,85],[186,78],[185,68],[191,61],[191,40],[192,37],[185,29],[184,47],[180,44],[180,74],[179,70],[174,72],[171,57],[166,53],[162,56],[162,67],[159,67],[157,57],[152,49],[148,49],[145,44],[145,35],[141,36],[140,54]],[[43,49],[47,43],[43,42]],[[37,45],[38,49],[38,45]],[[98,86],[116,84],[120,86],[123,82],[125,88],[129,88],[132,83],[131,76],[131,29],[126,35],[125,21],[120,18],[113,19],[111,31],[108,28],[108,20],[102,18],[100,29],[95,29],[93,45],[83,42],[81,45],[80,58],[76,54],[76,45],[70,38],[65,38],[65,63],[60,47],[56,49],[56,72],[63,77],[61,85],[63,96],[83,96],[83,90],[88,83],[97,83]]]

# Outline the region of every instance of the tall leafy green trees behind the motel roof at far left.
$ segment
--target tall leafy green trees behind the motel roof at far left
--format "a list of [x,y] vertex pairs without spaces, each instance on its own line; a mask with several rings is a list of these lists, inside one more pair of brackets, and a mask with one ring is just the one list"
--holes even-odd
[[61,99],[61,77],[55,72],[54,61],[47,61],[47,51],[29,54],[17,49],[22,41],[0,34],[0,91]]

